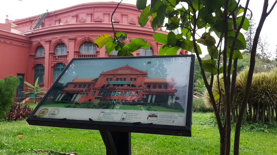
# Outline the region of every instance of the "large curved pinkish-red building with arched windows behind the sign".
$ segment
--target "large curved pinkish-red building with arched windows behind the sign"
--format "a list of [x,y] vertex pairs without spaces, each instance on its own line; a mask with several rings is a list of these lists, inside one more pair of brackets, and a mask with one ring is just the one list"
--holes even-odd
[[[0,24],[0,79],[18,76],[17,97],[22,97],[23,81],[34,83],[39,77],[39,84],[49,89],[72,58],[116,56],[116,51],[108,55],[105,47],[94,44],[101,34],[113,34],[110,19],[116,6],[117,2],[92,2],[15,21],[6,19]],[[138,23],[140,13],[135,5],[120,4],[113,16],[115,30],[127,33],[129,41],[125,43],[140,37],[151,45],[134,56],[158,55],[162,44],[153,39],[151,18],[143,28]]]

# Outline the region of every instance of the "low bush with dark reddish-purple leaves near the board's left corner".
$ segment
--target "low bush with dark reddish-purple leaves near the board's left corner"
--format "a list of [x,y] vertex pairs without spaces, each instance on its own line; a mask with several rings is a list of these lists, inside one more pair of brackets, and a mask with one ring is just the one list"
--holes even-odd
[[11,109],[7,112],[6,117],[6,119],[10,121],[24,120],[33,112],[33,108],[30,108],[28,105],[21,105],[17,103],[14,103],[14,105],[10,108]]

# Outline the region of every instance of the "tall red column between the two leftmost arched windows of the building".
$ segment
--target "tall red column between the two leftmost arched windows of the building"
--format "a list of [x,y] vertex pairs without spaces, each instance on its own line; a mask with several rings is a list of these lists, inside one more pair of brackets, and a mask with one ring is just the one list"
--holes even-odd
[[51,83],[50,83],[51,57],[49,55],[51,39],[44,40],[44,42],[45,42],[44,87],[46,87],[46,89],[49,89],[51,86]]

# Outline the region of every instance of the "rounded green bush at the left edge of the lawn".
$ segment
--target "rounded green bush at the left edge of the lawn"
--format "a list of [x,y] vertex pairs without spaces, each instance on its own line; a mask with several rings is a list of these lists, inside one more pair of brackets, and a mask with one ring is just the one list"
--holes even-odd
[[9,111],[10,106],[13,105],[14,91],[19,83],[19,79],[13,75],[0,80],[0,119],[6,118],[6,113]]

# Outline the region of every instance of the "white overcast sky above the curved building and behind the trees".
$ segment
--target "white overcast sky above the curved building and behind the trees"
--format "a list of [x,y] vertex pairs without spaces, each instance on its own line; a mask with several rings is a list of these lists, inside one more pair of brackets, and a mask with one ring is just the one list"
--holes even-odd
[[[46,12],[63,9],[66,7],[74,6],[77,4],[88,3],[88,2],[110,2],[111,0],[5,0],[1,2],[0,7],[0,23],[5,23],[5,19],[8,15],[9,20],[21,19],[26,17],[36,16]],[[113,0],[114,2],[119,2],[120,0]],[[148,0],[150,2],[150,0]],[[245,6],[246,0],[241,0],[240,4]],[[269,6],[273,4],[274,0],[269,0]],[[122,3],[136,4],[135,0],[123,0]],[[253,18],[256,25],[259,23],[260,14],[262,11],[263,1],[261,0],[252,0],[250,1],[249,8],[253,12]],[[269,10],[269,9],[268,9]],[[271,14],[267,17],[260,36],[267,37],[267,42],[270,44],[268,50],[271,50],[273,53],[276,49],[277,41],[277,6],[273,9]],[[202,51],[207,51],[206,48]],[[206,52],[205,52],[206,54]]]

